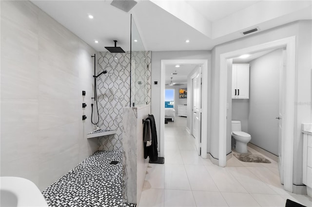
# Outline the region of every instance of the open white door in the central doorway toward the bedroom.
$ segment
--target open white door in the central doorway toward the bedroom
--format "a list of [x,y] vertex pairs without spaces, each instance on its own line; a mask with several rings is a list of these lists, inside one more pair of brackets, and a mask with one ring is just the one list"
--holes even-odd
[[195,146],[198,155],[200,155],[201,146],[201,69],[196,71],[195,77],[192,79],[193,82],[193,127],[192,135],[195,138]]

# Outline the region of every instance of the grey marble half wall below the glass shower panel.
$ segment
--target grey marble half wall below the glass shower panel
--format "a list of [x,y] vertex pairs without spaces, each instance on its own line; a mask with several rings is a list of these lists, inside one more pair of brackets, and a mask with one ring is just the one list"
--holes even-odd
[[140,200],[149,162],[149,158],[144,159],[142,120],[151,113],[150,109],[150,105],[123,107],[123,202],[137,204]]

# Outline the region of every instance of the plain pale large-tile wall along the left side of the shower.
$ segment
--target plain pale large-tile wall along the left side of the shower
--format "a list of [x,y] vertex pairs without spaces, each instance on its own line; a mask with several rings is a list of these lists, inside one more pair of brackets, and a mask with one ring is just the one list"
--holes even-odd
[[0,3],[0,173],[44,190],[98,148],[86,139],[96,51],[30,1]]

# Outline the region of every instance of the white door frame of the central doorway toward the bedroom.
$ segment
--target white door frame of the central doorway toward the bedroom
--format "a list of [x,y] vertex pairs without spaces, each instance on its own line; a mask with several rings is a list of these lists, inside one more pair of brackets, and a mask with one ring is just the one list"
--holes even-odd
[[[192,59],[192,60],[161,60],[160,61],[160,156],[164,155],[164,139],[165,139],[165,69],[166,65],[202,65],[202,119],[201,119],[201,157],[207,158],[207,142],[208,142],[208,60]],[[203,92],[203,91],[206,91]],[[188,114],[188,116],[190,116]]]

